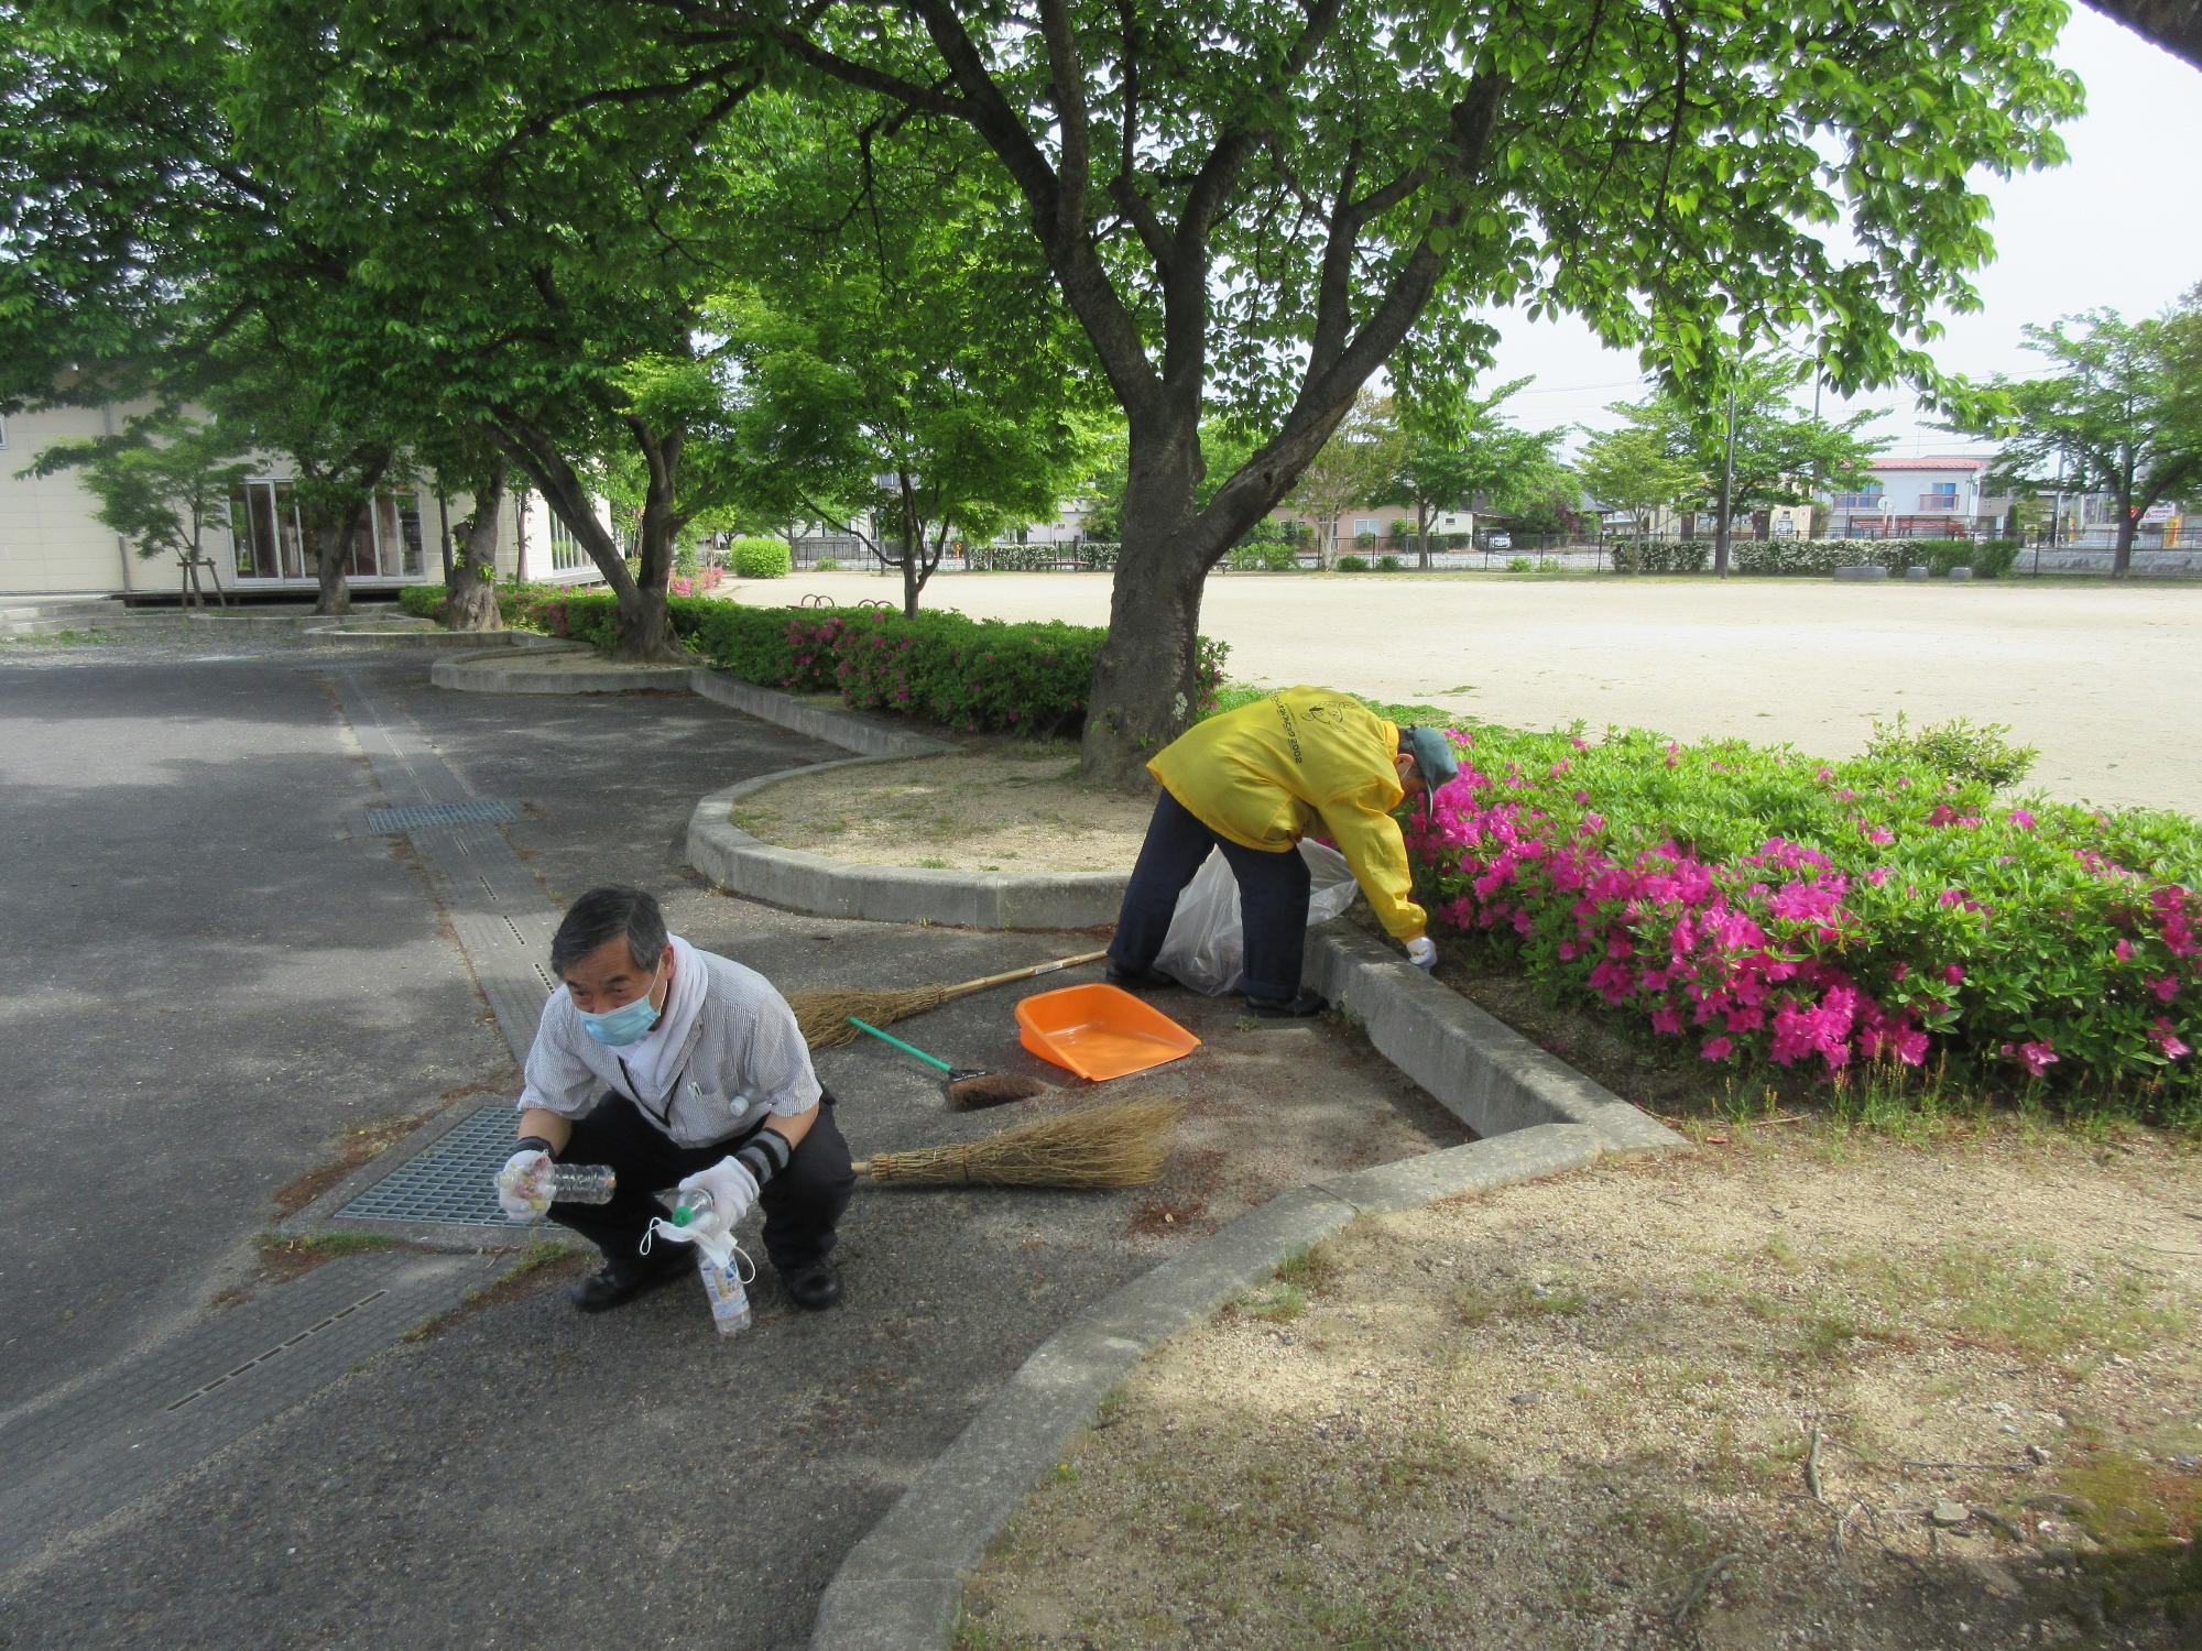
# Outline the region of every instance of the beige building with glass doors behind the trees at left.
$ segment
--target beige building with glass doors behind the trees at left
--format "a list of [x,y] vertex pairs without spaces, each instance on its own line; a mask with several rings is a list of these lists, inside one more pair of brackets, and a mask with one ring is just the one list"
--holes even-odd
[[[115,434],[139,407],[53,407],[0,418],[0,594],[48,597],[97,592],[163,599],[183,590],[174,557],[139,557],[95,515],[97,502],[75,471],[22,475],[55,442]],[[355,594],[443,583],[443,535],[465,520],[473,500],[436,495],[434,480],[385,486],[352,546],[346,579]],[[601,511],[599,511],[601,515]],[[225,592],[310,594],[313,550],[291,498],[291,469],[269,462],[247,471],[229,506],[229,524],[207,535],[214,577]],[[506,500],[498,533],[498,577],[588,583],[597,566],[528,493],[522,511]],[[200,570],[207,586],[207,572]]]

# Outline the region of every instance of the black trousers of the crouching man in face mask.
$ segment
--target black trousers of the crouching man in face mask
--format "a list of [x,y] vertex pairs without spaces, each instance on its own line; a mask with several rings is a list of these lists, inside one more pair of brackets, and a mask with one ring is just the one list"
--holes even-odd
[[[680,1147],[665,1136],[623,1094],[606,1094],[595,1109],[575,1118],[573,1140],[559,1153],[568,1165],[610,1165],[617,1191],[610,1204],[553,1204],[550,1220],[568,1226],[610,1259],[639,1255],[652,1215],[665,1206],[652,1198],[698,1169],[709,1169],[735,1151],[757,1129],[744,1129],[709,1147]],[[819,1116],[795,1147],[788,1167],[764,1182],[757,1206],[764,1211],[764,1253],[782,1275],[824,1261],[835,1246],[835,1224],[857,1189],[848,1142],[832,1120],[832,1096],[819,1096]],[[674,1257],[694,1266],[685,1244],[652,1244],[652,1259]]]

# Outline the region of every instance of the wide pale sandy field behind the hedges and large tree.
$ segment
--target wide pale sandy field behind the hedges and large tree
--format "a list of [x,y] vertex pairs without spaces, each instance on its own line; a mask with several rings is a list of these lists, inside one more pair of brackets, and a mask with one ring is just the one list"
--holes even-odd
[[[876,597],[859,572],[738,601]],[[927,605],[1108,623],[1108,575],[936,575]],[[1229,674],[1513,726],[1640,724],[1854,753],[1876,715],[2008,722],[2057,797],[2202,812],[2202,586],[1224,575],[1200,627]]]

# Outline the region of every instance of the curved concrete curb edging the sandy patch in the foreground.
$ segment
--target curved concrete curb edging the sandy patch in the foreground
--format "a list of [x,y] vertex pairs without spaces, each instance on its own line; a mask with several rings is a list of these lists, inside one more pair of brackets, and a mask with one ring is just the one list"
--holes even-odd
[[850,1550],[819,1600],[813,1651],[947,1647],[962,1609],[962,1574],[1061,1459],[1064,1442],[1092,1420],[1101,1398],[1154,1345],[1260,1283],[1293,1250],[1359,1215],[1557,1176],[1607,1149],[1590,1125],[1541,1125],[1339,1176],[1249,1211],[1200,1248],[1134,1279],[1044,1341]]

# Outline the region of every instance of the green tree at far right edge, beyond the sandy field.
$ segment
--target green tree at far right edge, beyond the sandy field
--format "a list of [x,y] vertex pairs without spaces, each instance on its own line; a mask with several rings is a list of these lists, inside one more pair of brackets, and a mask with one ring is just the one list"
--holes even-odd
[[2087,310],[2028,326],[2026,348],[2048,357],[2039,376],[1991,381],[1991,398],[1960,427],[2002,440],[1991,486],[2107,493],[2118,542],[2110,572],[2134,566],[2143,513],[2202,484],[2202,368],[2193,297],[2165,319],[2125,321]]

